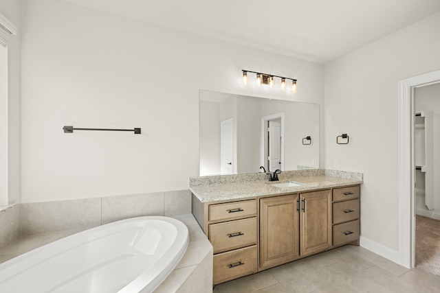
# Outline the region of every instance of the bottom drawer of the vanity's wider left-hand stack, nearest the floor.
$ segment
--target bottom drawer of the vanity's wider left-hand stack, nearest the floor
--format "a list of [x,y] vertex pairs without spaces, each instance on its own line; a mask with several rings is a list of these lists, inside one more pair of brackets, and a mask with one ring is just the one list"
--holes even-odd
[[214,255],[214,274],[212,276],[214,284],[254,272],[256,272],[256,245]]

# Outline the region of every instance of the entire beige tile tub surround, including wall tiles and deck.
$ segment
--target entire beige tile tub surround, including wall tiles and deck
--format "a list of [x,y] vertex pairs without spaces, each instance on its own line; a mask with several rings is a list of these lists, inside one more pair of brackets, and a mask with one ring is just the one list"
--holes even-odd
[[184,258],[155,292],[210,292],[212,246],[190,213],[188,189],[14,204],[0,211],[0,262],[101,224],[142,215],[164,215],[188,226],[190,244]]

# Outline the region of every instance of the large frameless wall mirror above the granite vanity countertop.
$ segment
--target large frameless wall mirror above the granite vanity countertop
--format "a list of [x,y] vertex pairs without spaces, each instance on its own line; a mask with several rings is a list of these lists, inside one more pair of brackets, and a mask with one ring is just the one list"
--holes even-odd
[[319,167],[319,105],[199,91],[200,176]]

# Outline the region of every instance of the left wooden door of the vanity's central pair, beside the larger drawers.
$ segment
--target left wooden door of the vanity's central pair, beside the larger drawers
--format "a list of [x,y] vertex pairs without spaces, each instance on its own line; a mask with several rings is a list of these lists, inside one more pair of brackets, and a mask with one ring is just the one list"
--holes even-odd
[[299,257],[298,194],[260,199],[260,269]]

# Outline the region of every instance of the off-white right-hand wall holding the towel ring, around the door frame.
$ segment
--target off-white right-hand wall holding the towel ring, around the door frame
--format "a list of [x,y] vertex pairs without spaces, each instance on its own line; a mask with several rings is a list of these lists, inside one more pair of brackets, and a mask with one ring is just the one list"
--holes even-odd
[[[440,69],[440,13],[325,65],[325,167],[364,173],[361,235],[397,255],[397,82]],[[349,134],[349,145],[336,137]],[[373,245],[373,246],[374,246]]]

